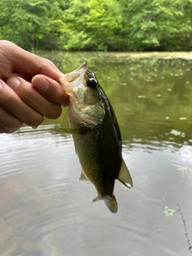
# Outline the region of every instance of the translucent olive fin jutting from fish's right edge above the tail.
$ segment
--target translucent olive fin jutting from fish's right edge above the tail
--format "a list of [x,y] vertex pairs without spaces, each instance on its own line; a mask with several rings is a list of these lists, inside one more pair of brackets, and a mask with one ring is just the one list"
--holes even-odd
[[122,166],[118,174],[118,180],[119,182],[122,182],[124,186],[128,187],[128,189],[131,189],[133,187],[133,181],[130,176],[130,171],[128,170],[126,163],[124,162],[123,159],[122,159]]

